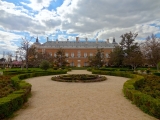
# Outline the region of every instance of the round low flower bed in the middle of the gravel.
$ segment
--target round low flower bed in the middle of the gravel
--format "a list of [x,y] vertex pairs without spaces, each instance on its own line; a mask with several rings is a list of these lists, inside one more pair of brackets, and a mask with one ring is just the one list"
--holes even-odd
[[51,79],[59,82],[99,82],[99,81],[104,81],[107,78],[105,76],[99,76],[99,75],[69,74],[69,75],[54,76]]

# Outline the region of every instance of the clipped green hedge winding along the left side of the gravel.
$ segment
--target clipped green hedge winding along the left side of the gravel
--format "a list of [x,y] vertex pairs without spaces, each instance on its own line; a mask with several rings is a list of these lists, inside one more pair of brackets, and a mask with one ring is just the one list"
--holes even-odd
[[[45,76],[45,75],[56,75],[66,74],[65,70],[57,71],[41,71],[35,73],[19,74],[11,78],[11,82],[17,91],[9,94],[6,97],[0,98],[0,120],[9,117],[14,111],[21,108],[21,106],[27,101],[28,96],[31,93],[31,84],[22,81],[26,78]],[[18,73],[17,73],[18,74]]]

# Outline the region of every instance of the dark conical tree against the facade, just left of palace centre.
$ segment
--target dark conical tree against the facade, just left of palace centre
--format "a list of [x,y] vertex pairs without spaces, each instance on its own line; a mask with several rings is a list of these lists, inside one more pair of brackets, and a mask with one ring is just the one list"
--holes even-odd
[[66,61],[66,58],[67,57],[65,56],[65,51],[62,48],[60,48],[56,52],[54,64],[57,67],[65,67],[68,64],[68,62]]

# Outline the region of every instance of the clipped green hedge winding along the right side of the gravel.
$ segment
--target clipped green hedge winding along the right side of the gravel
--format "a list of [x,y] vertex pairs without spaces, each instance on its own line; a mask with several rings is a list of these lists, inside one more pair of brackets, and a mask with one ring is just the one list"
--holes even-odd
[[108,72],[108,71],[93,71],[93,74],[104,74],[131,78],[123,85],[124,95],[131,100],[136,106],[138,106],[145,113],[148,113],[158,119],[160,119],[160,99],[155,99],[150,95],[144,94],[136,88],[143,84],[144,77],[128,72]]

